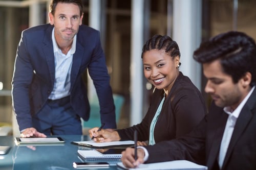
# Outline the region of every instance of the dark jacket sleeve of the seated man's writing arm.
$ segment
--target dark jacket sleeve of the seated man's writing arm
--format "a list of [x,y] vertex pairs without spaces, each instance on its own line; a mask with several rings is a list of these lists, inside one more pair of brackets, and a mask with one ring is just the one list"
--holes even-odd
[[189,134],[145,147],[149,154],[146,163],[185,159],[205,164],[206,123],[207,115]]

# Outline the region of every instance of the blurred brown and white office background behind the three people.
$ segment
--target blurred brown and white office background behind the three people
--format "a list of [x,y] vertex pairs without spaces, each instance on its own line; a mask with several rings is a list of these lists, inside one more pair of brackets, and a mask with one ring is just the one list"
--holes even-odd
[[[113,92],[124,96],[118,128],[137,124],[149,106],[153,87],[143,76],[141,49],[154,34],[178,42],[180,70],[204,93],[201,66],[193,51],[201,41],[238,30],[256,39],[254,0],[82,0],[83,24],[101,33]],[[0,126],[13,124],[11,80],[20,34],[48,23],[50,0],[0,1]],[[92,82],[84,73],[91,98]],[[98,125],[96,125],[98,126]]]

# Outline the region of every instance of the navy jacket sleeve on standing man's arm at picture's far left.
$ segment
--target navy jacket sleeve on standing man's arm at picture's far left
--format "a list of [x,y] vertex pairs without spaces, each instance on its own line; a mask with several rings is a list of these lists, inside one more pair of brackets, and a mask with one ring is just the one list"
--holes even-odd
[[27,49],[26,34],[23,32],[17,48],[12,79],[12,105],[19,130],[32,127],[29,87],[33,78],[33,68]]

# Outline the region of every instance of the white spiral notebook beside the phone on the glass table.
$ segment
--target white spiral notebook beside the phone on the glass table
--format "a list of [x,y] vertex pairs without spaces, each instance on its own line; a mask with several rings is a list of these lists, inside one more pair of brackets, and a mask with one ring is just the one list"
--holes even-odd
[[78,155],[84,160],[119,160],[122,154],[103,154],[96,150],[78,150]]

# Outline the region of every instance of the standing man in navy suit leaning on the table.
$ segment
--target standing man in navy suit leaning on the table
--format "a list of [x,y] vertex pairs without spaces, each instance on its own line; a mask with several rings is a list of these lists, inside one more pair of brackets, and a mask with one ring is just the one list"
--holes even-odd
[[104,128],[115,129],[115,106],[99,32],[82,25],[81,0],[52,0],[50,24],[23,31],[12,81],[22,137],[82,134],[90,106],[82,74],[89,71]]

